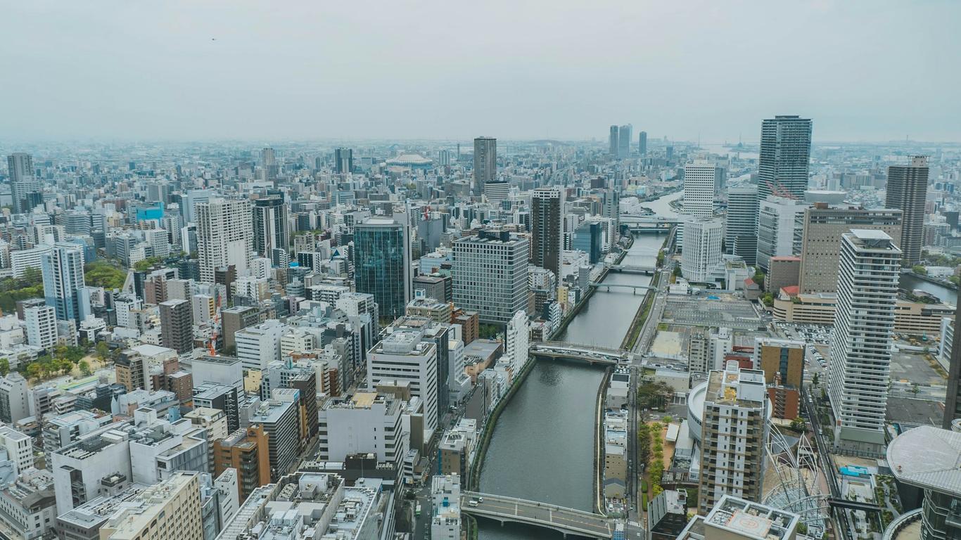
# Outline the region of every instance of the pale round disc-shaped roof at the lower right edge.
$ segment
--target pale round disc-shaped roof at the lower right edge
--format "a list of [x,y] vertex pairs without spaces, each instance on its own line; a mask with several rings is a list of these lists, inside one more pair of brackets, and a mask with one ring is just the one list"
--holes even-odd
[[961,496],[961,433],[920,426],[888,445],[888,465],[899,481]]

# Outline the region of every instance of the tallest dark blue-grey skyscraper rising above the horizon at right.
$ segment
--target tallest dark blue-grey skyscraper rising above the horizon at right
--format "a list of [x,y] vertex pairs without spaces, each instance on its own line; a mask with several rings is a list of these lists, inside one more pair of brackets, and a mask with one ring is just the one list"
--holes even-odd
[[811,120],[797,115],[775,116],[761,123],[757,163],[757,198],[769,195],[802,200],[811,160]]

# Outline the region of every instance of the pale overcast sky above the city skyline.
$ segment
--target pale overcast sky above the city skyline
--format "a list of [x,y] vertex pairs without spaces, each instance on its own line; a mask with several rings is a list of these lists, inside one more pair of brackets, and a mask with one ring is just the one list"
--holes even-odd
[[0,0],[5,139],[961,141],[961,2]]

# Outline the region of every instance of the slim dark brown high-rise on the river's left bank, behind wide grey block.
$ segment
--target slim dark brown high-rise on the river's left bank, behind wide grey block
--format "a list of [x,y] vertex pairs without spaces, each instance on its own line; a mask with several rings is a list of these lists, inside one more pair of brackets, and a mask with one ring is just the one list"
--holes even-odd
[[560,274],[564,249],[564,192],[560,187],[538,187],[530,198],[530,262]]

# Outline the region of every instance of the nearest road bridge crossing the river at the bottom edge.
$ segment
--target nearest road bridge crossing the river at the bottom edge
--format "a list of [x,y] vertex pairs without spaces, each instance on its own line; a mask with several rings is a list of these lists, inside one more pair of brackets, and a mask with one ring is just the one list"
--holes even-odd
[[501,522],[525,523],[553,528],[565,537],[577,534],[588,538],[611,538],[614,522],[605,516],[549,503],[475,491],[460,493],[460,511]]

